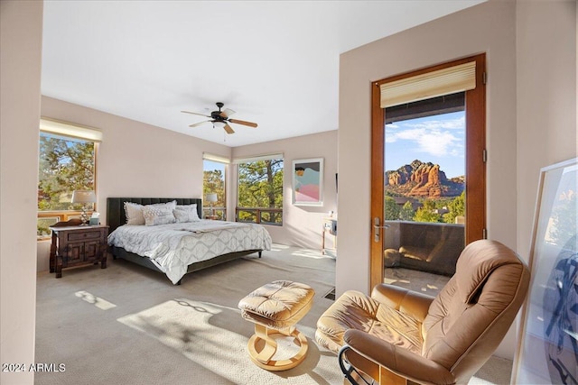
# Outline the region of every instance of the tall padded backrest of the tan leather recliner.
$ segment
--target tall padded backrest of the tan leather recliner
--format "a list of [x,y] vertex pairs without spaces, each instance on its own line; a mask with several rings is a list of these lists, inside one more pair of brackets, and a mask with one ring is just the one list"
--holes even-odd
[[422,355],[467,382],[496,350],[527,295],[530,272],[496,241],[470,243],[424,319]]

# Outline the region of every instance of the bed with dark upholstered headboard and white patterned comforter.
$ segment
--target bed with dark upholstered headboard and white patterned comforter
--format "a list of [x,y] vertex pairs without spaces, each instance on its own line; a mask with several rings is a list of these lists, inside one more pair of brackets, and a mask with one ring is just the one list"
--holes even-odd
[[[256,224],[200,219],[191,223],[126,225],[125,202],[149,206],[172,201],[179,207],[192,209],[191,205],[196,205],[196,214],[202,218],[199,198],[108,197],[108,246],[113,258],[163,272],[173,284],[180,284],[186,273],[255,252],[261,258],[263,250],[271,249],[270,235],[265,227]],[[215,241],[219,245],[211,249]]]

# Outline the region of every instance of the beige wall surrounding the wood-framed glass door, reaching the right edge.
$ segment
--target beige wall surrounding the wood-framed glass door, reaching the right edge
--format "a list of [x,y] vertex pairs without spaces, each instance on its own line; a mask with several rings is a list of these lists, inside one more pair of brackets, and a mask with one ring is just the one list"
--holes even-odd
[[[538,163],[576,153],[575,33],[573,1],[490,0],[341,55],[338,295],[369,289],[369,83],[487,53],[488,236],[527,260]],[[497,353],[511,358],[515,338]]]

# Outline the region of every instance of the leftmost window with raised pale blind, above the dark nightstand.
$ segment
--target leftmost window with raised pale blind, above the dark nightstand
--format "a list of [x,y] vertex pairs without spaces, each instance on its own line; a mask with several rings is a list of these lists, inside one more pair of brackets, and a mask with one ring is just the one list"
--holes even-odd
[[80,216],[82,205],[71,203],[72,191],[96,190],[101,133],[49,119],[41,120],[40,130],[37,236],[43,238],[51,234],[49,226]]

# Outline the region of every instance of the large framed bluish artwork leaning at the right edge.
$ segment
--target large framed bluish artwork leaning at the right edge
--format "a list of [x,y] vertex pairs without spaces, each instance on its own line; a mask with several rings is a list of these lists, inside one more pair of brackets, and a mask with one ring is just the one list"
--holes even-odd
[[578,384],[577,162],[540,170],[512,383]]

